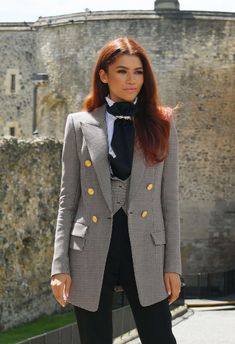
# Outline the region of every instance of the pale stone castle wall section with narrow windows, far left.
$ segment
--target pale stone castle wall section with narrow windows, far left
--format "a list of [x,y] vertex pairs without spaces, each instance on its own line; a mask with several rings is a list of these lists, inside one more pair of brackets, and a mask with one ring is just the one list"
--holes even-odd
[[[35,32],[0,23],[0,136],[15,128],[16,137],[32,133],[32,73],[36,63]],[[11,91],[15,75],[15,91]]]

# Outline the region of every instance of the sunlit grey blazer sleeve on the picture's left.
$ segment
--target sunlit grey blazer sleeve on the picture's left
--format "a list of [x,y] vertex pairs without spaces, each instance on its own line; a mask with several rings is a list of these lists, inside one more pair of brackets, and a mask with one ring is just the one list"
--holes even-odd
[[77,154],[73,117],[72,114],[69,114],[64,131],[59,210],[51,276],[58,273],[70,273],[68,256],[70,231],[77,211],[80,193],[80,161]]

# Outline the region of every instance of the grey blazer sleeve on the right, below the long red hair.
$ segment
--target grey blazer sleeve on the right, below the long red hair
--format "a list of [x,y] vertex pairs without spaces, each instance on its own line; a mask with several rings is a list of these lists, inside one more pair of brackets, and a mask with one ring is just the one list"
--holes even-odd
[[162,179],[162,210],[166,231],[164,272],[181,275],[178,137],[173,117],[170,123],[169,152],[164,160]]

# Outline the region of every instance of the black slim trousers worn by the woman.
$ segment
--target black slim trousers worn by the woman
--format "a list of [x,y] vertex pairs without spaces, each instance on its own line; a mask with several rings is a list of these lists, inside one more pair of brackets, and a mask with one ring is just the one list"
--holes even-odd
[[112,344],[114,285],[122,285],[133,312],[141,343],[176,344],[167,299],[143,307],[137,294],[127,215],[120,208],[113,218],[112,237],[104,271],[99,307],[90,312],[74,306],[82,344]]

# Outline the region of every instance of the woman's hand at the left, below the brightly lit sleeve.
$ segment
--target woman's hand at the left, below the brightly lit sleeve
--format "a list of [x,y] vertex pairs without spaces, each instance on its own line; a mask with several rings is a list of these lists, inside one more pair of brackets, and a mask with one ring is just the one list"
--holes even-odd
[[51,288],[56,300],[65,307],[72,279],[68,274],[55,274],[51,277]]

